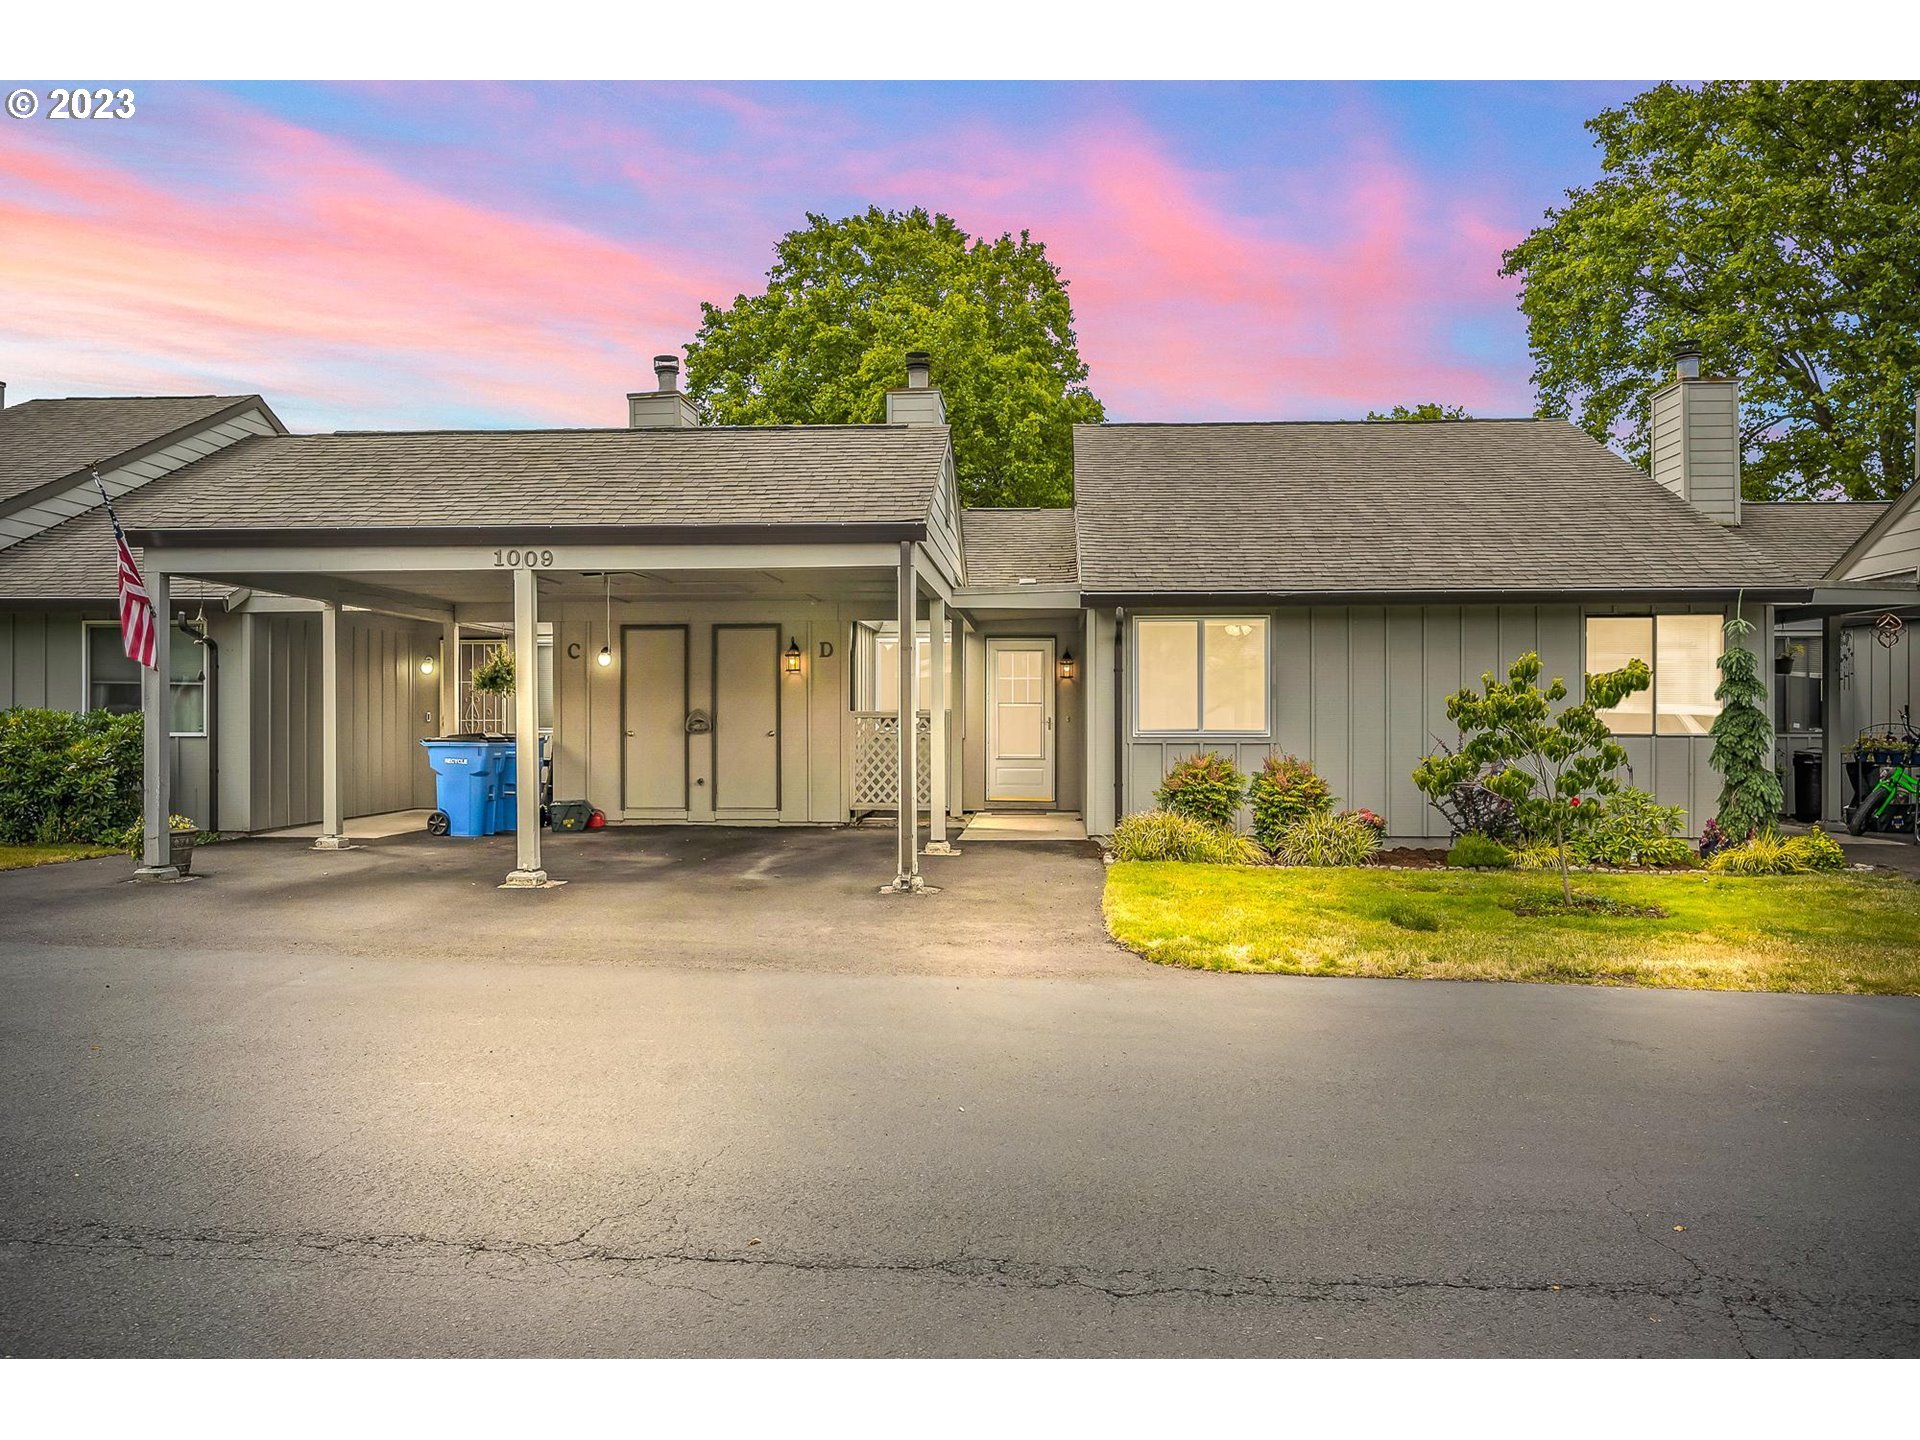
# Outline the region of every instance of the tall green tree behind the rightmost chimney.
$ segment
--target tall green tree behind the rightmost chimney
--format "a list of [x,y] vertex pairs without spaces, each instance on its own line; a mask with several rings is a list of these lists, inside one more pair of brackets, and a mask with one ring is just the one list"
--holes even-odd
[[1738,374],[1749,497],[1895,495],[1920,376],[1920,84],[1661,84],[1507,252],[1542,415],[1645,465],[1674,344]]

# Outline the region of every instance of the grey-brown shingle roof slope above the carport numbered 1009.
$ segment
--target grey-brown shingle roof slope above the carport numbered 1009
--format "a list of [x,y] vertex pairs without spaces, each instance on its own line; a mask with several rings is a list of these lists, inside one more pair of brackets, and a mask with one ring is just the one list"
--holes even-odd
[[257,436],[150,484],[129,530],[920,522],[945,426]]

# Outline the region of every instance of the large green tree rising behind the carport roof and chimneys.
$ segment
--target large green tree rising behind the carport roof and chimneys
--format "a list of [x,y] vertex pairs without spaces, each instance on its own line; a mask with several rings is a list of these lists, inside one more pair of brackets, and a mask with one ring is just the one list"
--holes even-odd
[[762,294],[701,305],[687,392],[712,424],[868,424],[910,349],[933,357],[968,505],[1073,503],[1073,426],[1106,411],[1068,282],[1025,230],[975,240],[924,209],[808,215]]

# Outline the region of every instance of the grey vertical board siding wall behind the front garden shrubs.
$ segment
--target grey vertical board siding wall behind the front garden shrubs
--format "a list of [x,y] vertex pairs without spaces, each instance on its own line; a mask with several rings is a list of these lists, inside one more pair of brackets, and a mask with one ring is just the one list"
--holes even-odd
[[[1722,607],[1661,605],[1661,614],[1722,612]],[[1135,614],[1154,614],[1137,611]],[[1192,609],[1165,614],[1196,614]],[[1386,816],[1388,833],[1405,839],[1446,839],[1446,820],[1413,785],[1413,768],[1444,739],[1457,741],[1446,701],[1478,685],[1492,670],[1526,651],[1538,651],[1546,680],[1563,676],[1578,689],[1588,614],[1647,614],[1634,605],[1315,605],[1240,609],[1265,614],[1271,630],[1269,716],[1261,739],[1137,737],[1131,695],[1121,697],[1127,724],[1121,808],[1150,810],[1154,789],[1179,760],[1221,751],[1252,774],[1267,755],[1298,755],[1340,797],[1342,806],[1367,806]],[[1227,611],[1219,611],[1227,614]],[[1759,611],[1749,607],[1757,624]],[[1112,632],[1112,612],[1102,612]],[[1131,628],[1131,626],[1129,626]],[[1764,630],[1749,643],[1766,653]],[[1131,645],[1131,636],[1129,636]],[[1127,655],[1129,668],[1135,657]],[[1770,670],[1770,666],[1763,666]],[[1127,687],[1131,691],[1133,678]],[[1707,762],[1711,741],[1692,735],[1622,735],[1626,780],[1663,804],[1688,812],[1697,831],[1715,812],[1720,778]],[[1244,816],[1242,816],[1244,820]]]

